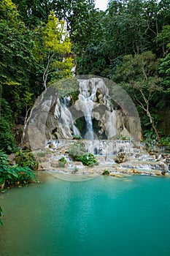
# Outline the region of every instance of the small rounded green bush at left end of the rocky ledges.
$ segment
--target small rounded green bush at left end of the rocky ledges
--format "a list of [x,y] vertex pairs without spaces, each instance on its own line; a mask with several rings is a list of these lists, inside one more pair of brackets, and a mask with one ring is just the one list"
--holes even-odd
[[39,167],[34,154],[29,151],[17,151],[15,161],[20,167],[28,167],[31,170],[37,170]]

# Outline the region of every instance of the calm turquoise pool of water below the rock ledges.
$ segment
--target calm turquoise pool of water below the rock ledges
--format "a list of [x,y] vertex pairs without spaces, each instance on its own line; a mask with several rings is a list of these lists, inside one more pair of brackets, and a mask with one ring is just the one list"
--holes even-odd
[[170,255],[169,178],[40,175],[0,197],[1,256]]

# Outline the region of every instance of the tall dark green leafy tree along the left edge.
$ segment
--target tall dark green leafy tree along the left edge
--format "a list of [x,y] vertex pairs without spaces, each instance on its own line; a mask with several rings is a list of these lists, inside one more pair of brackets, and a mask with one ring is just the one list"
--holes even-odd
[[[35,62],[32,31],[20,20],[20,15],[11,0],[0,4],[0,86],[1,119],[0,148],[7,153],[15,149],[12,128],[18,116],[34,100],[31,80]],[[28,95],[29,100],[28,100]]]

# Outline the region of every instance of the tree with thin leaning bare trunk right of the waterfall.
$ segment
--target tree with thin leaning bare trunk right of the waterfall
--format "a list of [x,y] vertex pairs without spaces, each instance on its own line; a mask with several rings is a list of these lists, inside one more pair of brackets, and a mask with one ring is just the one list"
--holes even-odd
[[131,91],[131,95],[134,95],[134,101],[147,114],[155,134],[160,140],[158,129],[155,127],[155,120],[150,110],[150,102],[153,99],[154,92],[162,90],[159,85],[161,78],[158,78],[157,70],[158,62],[155,59],[155,55],[147,51],[134,56],[124,56],[122,64],[117,67],[112,79],[120,83],[125,89],[128,89],[128,91]]

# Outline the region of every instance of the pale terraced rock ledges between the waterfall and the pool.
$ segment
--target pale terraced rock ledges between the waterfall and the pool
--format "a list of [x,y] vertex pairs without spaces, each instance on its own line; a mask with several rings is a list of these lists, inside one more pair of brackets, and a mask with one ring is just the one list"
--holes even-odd
[[[137,174],[147,176],[165,176],[169,173],[170,154],[151,153],[139,148],[131,152],[119,152],[116,155],[96,155],[98,165],[88,167],[82,162],[73,161],[66,148],[35,152],[39,160],[39,170],[50,173],[66,173],[96,176],[107,173],[110,176]],[[58,160],[64,157],[66,165],[60,167]]]

